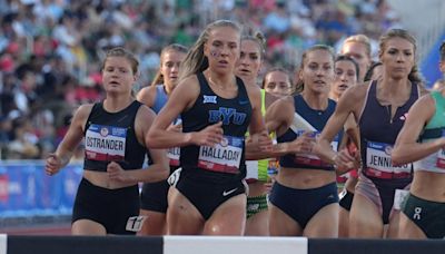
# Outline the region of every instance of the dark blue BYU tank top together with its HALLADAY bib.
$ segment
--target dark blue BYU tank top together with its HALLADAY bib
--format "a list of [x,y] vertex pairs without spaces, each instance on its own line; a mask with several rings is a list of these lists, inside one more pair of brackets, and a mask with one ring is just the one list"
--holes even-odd
[[238,95],[233,99],[217,96],[202,72],[197,74],[200,92],[194,106],[181,114],[182,131],[199,131],[222,121],[225,138],[220,145],[185,146],[180,150],[182,174],[224,182],[246,176],[244,137],[251,117],[251,105],[246,87],[237,78]]

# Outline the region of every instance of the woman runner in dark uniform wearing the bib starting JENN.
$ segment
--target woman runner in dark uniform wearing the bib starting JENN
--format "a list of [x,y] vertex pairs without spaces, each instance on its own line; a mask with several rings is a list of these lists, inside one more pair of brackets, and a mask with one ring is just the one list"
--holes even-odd
[[[421,95],[417,74],[415,39],[402,29],[389,30],[380,38],[379,58],[382,79],[348,89],[339,99],[337,109],[318,139],[317,150],[326,162],[334,163],[338,173],[357,165],[363,170],[355,188],[349,215],[350,237],[384,237],[384,225],[389,224],[388,236],[395,237],[398,226],[396,189],[408,188],[412,166],[394,166],[392,147],[409,107]],[[417,78],[417,80],[419,80]],[[332,137],[343,128],[353,114],[360,130],[360,155],[330,149]]]

